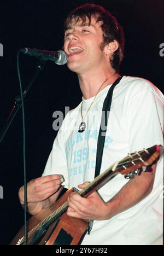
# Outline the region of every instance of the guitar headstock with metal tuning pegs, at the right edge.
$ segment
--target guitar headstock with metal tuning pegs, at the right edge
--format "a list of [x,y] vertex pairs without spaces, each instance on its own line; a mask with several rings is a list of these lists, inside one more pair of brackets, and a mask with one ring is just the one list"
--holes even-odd
[[[146,166],[154,164],[159,159],[161,152],[162,147],[155,145],[151,148],[128,154],[126,158],[119,162],[116,171],[119,171],[122,175],[140,168],[143,168],[144,171]],[[117,170],[120,167],[122,167],[121,170]]]

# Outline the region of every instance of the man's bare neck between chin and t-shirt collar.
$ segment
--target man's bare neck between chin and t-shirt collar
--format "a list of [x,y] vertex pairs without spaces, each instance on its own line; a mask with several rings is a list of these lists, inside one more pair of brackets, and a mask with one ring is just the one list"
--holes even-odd
[[[102,72],[95,72],[90,74],[78,74],[79,78],[79,85],[81,92],[83,94],[83,97],[87,100],[88,98],[94,97],[100,86],[103,84],[103,82],[108,78],[107,82],[102,85],[101,90],[106,88],[107,85],[113,84],[114,81],[119,77],[120,75],[115,72],[115,70],[109,69],[107,71]],[[111,78],[110,78],[111,77]]]

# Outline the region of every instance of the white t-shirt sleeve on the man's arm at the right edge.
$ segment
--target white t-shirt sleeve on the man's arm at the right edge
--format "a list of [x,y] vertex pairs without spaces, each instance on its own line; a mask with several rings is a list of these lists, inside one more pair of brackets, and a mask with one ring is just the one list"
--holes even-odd
[[127,129],[130,152],[163,146],[163,97],[152,84],[141,80],[127,99]]

